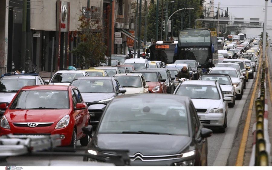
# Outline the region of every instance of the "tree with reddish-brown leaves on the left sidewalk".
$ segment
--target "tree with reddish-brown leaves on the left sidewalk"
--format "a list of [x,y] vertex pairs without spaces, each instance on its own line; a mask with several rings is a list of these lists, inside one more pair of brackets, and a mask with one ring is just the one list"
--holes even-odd
[[[91,11],[92,16],[89,19],[83,15],[79,16],[78,31],[75,31],[73,36],[75,37],[78,33],[81,41],[70,52],[77,56],[79,63],[84,63],[88,67],[94,64],[106,63],[105,51],[107,47],[102,38],[102,32],[105,28],[101,26],[100,12],[97,11],[97,8],[92,10],[87,8],[86,10]],[[104,12],[108,14],[110,10],[108,6]]]

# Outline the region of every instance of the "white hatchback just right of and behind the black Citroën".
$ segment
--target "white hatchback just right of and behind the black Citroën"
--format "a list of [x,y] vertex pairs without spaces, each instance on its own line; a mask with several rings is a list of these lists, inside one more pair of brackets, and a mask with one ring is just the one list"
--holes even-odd
[[224,133],[227,127],[228,103],[231,97],[222,93],[217,81],[192,80],[180,83],[175,95],[189,96],[204,126],[214,126]]

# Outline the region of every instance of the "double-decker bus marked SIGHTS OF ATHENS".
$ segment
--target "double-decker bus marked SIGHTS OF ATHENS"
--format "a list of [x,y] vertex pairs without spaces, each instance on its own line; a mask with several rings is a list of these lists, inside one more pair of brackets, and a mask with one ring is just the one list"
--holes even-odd
[[179,60],[196,60],[202,67],[209,59],[218,63],[218,46],[216,31],[202,28],[183,29],[179,33],[177,58]]

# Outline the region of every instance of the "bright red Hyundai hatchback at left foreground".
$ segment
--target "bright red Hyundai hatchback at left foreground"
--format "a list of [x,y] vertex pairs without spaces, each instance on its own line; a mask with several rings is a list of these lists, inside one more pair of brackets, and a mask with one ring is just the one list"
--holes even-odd
[[81,128],[90,120],[88,107],[74,86],[39,85],[21,88],[1,119],[0,136],[13,133],[23,136],[60,134],[61,145],[76,150],[76,141],[87,145],[89,137]]

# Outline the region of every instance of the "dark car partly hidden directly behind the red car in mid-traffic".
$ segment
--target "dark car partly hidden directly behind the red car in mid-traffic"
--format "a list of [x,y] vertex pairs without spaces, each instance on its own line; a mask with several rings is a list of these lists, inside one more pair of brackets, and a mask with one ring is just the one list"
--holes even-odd
[[161,77],[166,80],[164,82],[167,88],[166,92],[170,94],[174,93],[175,91],[174,80],[176,79],[176,77],[171,76],[171,73],[167,68],[147,68],[147,70],[158,70],[161,74]]

